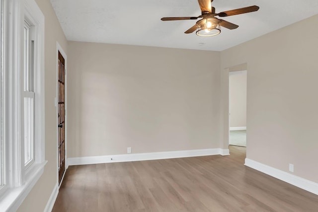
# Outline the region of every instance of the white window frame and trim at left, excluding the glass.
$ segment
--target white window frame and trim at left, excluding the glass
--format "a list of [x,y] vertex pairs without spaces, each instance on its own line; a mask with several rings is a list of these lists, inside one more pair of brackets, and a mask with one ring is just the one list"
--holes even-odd
[[[16,211],[44,172],[44,15],[35,0],[4,1],[3,153],[1,211]],[[24,20],[34,26],[34,162],[24,166],[22,91]]]

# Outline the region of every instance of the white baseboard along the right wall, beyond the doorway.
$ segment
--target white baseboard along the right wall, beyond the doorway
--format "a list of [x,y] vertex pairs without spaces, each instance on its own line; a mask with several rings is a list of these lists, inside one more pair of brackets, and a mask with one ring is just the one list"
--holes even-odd
[[296,175],[256,162],[248,158],[245,158],[244,165],[318,195],[318,183],[306,180],[304,178],[298,177]]

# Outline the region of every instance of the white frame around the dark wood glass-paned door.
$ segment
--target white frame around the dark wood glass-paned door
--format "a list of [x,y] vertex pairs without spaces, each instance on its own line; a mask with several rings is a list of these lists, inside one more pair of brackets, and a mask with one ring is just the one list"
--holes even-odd
[[[58,164],[58,161],[59,161],[59,131],[58,131],[58,125],[59,125],[59,119],[58,119],[58,113],[59,113],[59,108],[58,108],[58,95],[59,95],[59,89],[58,89],[58,78],[59,78],[59,52],[61,53],[61,55],[63,56],[64,58],[64,71],[65,71],[65,81],[64,81],[64,91],[65,91],[65,94],[64,94],[64,110],[65,110],[65,123],[64,123],[64,132],[65,132],[65,172],[62,176],[62,179],[61,179],[61,183],[59,184],[59,164]],[[56,170],[57,170],[57,173],[56,173],[56,180],[57,180],[57,184],[60,188],[60,186],[62,185],[62,182],[63,182],[63,179],[64,179],[64,176],[65,176],[65,173],[66,173],[66,170],[68,169],[69,167],[69,164],[68,164],[68,160],[67,160],[67,126],[68,126],[68,116],[67,116],[67,55],[66,53],[64,52],[64,50],[62,49],[62,47],[60,46],[60,44],[58,42],[56,42],[56,95],[55,95],[55,107],[56,107],[56,159],[57,159],[57,167],[56,167]]]

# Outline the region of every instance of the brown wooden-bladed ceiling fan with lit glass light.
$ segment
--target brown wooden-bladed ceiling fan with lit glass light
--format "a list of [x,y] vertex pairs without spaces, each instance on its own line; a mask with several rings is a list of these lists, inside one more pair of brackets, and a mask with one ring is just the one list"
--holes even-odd
[[211,2],[213,0],[198,0],[200,8],[201,8],[201,15],[198,17],[163,17],[161,20],[163,21],[171,21],[171,20],[196,20],[198,18],[202,18],[196,22],[194,26],[190,29],[185,31],[184,33],[192,33],[195,30],[196,34],[203,37],[214,36],[221,33],[221,26],[228,28],[228,29],[236,29],[239,26],[231,23],[229,21],[216,18],[215,16],[219,17],[226,17],[231,15],[238,15],[247,12],[254,12],[259,9],[259,6],[247,6],[239,9],[228,10],[220,13],[215,13],[215,7],[211,6]]

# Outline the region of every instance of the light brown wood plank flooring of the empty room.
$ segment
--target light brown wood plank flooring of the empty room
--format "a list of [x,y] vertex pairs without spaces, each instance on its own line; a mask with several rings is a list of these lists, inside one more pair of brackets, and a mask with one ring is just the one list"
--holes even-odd
[[318,196],[245,167],[245,147],[70,166],[53,212],[318,212]]

